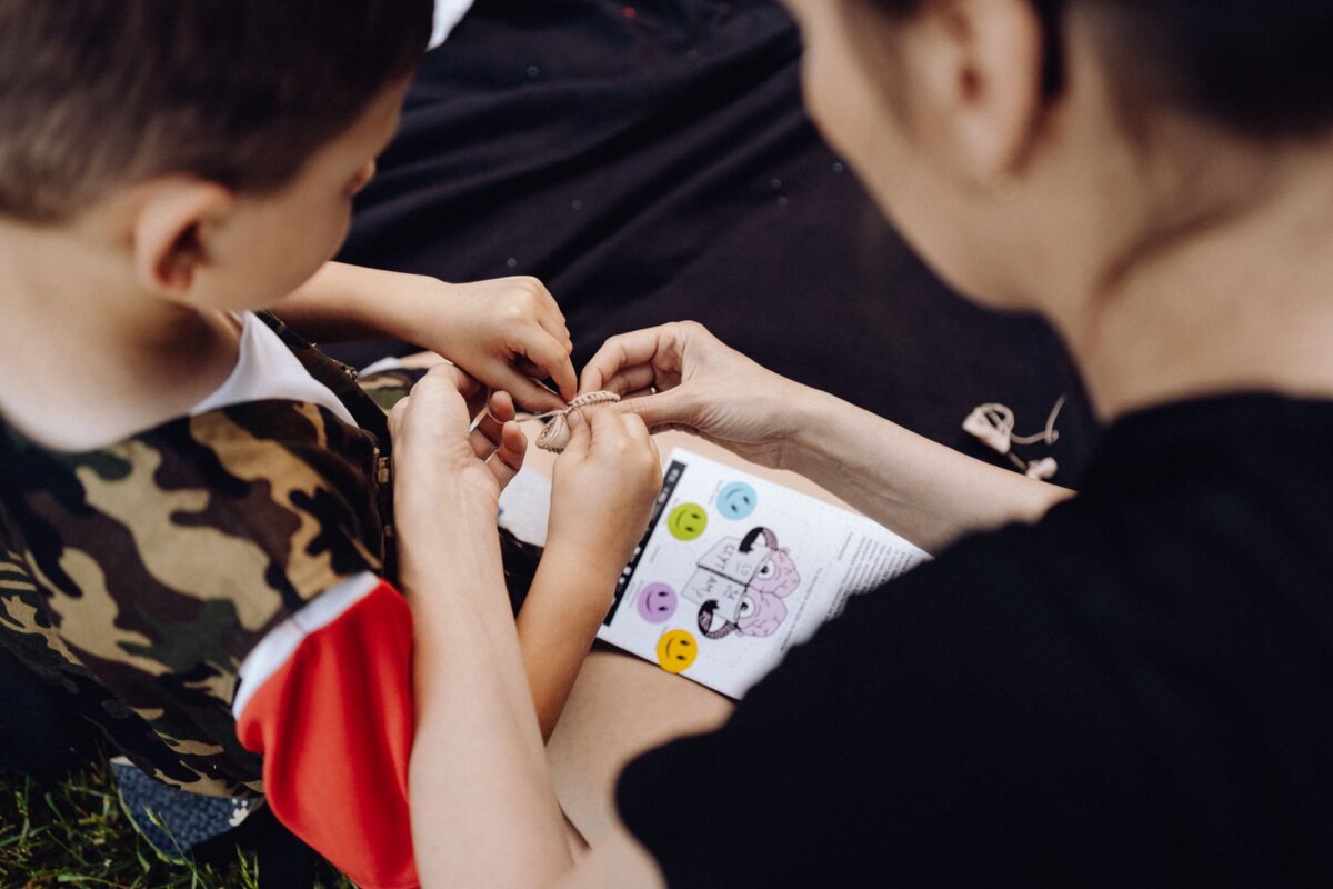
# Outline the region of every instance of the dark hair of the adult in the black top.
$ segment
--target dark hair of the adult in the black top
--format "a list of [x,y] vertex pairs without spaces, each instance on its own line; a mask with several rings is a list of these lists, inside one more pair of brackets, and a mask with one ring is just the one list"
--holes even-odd
[[[932,0],[854,0],[909,16]],[[1100,13],[1098,37],[1126,107],[1173,105],[1241,133],[1280,139],[1333,129],[1333,0],[1032,0],[1052,32],[1060,81],[1066,8]]]

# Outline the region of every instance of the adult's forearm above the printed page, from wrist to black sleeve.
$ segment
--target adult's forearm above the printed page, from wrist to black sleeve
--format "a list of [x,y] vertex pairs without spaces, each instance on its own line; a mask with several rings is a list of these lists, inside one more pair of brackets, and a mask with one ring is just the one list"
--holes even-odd
[[868,411],[808,391],[784,465],[929,552],[1013,521],[1036,521],[1066,488],[974,460]]

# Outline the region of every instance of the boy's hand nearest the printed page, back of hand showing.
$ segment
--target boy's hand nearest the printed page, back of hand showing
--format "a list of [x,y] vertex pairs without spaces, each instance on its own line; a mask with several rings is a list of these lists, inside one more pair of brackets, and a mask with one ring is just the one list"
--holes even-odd
[[547,552],[619,572],[661,490],[657,445],[637,416],[607,408],[572,411],[569,432],[552,473]]

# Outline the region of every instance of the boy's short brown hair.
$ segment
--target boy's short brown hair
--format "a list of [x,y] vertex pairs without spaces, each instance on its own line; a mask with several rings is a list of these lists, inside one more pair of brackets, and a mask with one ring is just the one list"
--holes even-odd
[[431,0],[0,0],[0,215],[289,181],[425,52]]

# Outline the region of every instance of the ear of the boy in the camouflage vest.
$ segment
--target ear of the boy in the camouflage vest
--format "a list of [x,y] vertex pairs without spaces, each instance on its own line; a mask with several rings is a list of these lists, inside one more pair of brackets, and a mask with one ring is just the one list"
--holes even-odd
[[155,183],[133,223],[139,284],[173,301],[189,301],[189,291],[209,261],[209,240],[233,200],[229,191],[213,183],[192,179]]

